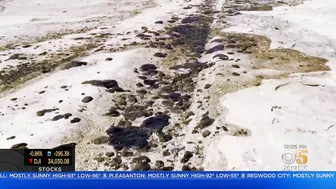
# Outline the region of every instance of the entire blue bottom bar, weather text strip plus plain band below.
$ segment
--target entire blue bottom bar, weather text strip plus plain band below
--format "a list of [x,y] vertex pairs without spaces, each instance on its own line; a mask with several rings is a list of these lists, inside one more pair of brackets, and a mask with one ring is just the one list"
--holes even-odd
[[14,188],[336,188],[336,172],[32,172],[0,173],[0,189]]

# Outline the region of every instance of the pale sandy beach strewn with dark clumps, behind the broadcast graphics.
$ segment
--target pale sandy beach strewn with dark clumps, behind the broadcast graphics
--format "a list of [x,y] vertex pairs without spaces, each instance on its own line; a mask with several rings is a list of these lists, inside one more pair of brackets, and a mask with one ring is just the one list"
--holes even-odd
[[166,171],[278,171],[290,148],[334,170],[335,15],[333,0],[0,0],[0,147]]

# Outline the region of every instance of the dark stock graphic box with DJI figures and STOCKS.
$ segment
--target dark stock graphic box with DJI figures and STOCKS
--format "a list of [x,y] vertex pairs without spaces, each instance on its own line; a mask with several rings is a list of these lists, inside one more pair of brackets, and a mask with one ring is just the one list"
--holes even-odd
[[0,149],[0,172],[74,172],[74,149]]

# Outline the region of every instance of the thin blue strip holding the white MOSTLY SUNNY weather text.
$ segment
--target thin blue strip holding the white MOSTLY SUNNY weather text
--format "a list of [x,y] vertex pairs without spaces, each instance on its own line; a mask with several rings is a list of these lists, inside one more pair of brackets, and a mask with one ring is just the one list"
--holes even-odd
[[243,180],[243,179],[334,179],[335,172],[71,172],[0,173],[1,179],[80,179],[80,180]]

